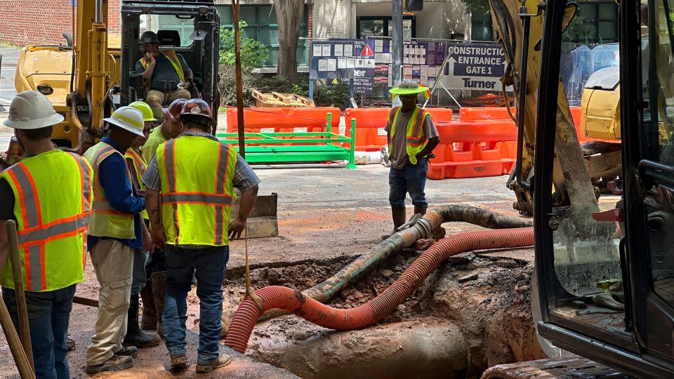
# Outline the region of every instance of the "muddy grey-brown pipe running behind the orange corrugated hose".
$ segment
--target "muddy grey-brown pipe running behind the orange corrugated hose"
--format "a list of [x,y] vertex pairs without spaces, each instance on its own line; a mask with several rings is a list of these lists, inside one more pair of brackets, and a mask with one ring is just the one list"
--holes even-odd
[[[431,209],[417,225],[404,229],[380,244],[371,248],[368,252],[360,255],[349,265],[326,281],[303,291],[302,294],[318,302],[327,302],[334,295],[340,293],[348,284],[371,270],[376,264],[387,260],[393,253],[398,253],[404,248],[412,246],[418,239],[428,238],[432,230],[440,227],[444,222],[468,222],[473,225],[487,227],[489,229],[506,229],[513,227],[529,227],[534,223],[530,218],[518,218],[501,215],[478,208],[477,206],[449,205]],[[268,310],[259,321],[289,314],[286,310]]]

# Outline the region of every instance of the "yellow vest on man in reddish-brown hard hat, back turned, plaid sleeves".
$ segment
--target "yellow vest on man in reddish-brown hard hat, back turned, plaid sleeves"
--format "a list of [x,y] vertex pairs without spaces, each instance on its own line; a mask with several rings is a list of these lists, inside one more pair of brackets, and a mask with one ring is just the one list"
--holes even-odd
[[236,150],[184,135],[159,145],[157,164],[166,244],[227,245]]

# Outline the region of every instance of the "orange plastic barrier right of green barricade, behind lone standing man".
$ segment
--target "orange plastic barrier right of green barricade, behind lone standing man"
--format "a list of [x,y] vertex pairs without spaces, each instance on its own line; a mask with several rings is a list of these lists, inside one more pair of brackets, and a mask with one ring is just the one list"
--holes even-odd
[[[425,108],[434,122],[451,121],[449,108]],[[356,119],[356,151],[378,152],[386,145],[386,120],[390,108],[348,108],[345,110],[346,134],[351,136],[351,120]]]

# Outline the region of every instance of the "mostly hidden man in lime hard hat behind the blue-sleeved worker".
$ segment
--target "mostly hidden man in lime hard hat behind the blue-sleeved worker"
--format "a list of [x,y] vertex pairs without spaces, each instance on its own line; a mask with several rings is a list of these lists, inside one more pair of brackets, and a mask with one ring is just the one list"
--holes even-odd
[[[150,135],[152,128],[154,128],[154,121],[157,121],[152,116],[152,109],[150,105],[147,105],[145,102],[136,101],[128,105],[129,107],[138,109],[143,114],[144,128],[143,136],[137,135],[131,143],[131,147],[126,150],[124,158],[126,158],[126,165],[131,170],[131,179],[133,186],[136,188],[138,193],[145,194],[145,186],[143,185],[143,174],[145,173],[145,160],[140,154],[140,147],[143,146],[145,141],[147,141],[147,136]],[[140,217],[143,219],[143,230],[147,232],[150,227],[150,218],[147,216],[147,211],[140,213]],[[137,250],[136,254],[133,255],[133,281],[131,282],[131,302],[128,306],[128,320],[126,326],[126,336],[124,337],[124,345],[133,345],[139,349],[144,347],[153,347],[159,345],[159,337],[156,334],[147,335],[140,330],[138,325],[138,309],[139,309],[139,294],[140,291],[145,287],[145,263],[147,262],[147,257],[150,255],[148,250]],[[152,304],[154,307],[154,299],[143,299],[143,306],[145,306],[146,301]],[[150,308],[150,307],[148,307]]]

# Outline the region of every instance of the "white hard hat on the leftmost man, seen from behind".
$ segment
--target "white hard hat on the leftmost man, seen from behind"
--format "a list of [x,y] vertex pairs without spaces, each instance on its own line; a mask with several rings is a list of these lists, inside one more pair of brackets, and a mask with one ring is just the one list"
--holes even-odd
[[15,129],[39,129],[61,121],[63,117],[54,111],[45,95],[35,91],[23,91],[12,99],[9,118],[3,124]]

